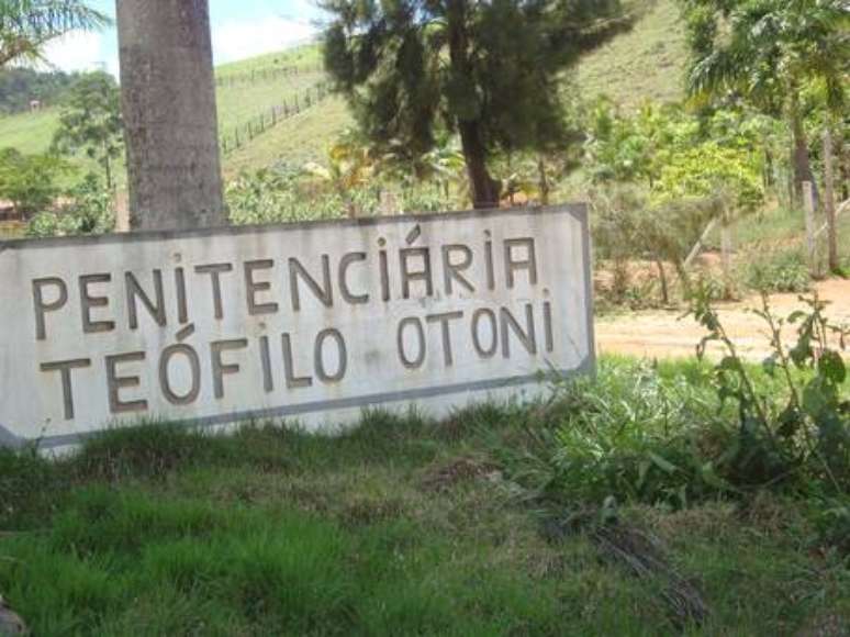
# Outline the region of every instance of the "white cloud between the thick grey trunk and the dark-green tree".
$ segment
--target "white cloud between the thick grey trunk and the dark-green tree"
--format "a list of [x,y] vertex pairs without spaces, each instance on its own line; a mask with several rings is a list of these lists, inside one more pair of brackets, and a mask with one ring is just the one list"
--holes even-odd
[[281,51],[315,35],[305,21],[266,18],[256,21],[228,21],[213,26],[213,57],[224,64]]

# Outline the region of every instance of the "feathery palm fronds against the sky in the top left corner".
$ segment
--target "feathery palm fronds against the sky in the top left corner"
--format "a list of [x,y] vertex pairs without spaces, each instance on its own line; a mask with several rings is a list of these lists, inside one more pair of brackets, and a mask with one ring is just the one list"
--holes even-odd
[[49,41],[108,23],[81,0],[0,0],[0,67],[38,60]]

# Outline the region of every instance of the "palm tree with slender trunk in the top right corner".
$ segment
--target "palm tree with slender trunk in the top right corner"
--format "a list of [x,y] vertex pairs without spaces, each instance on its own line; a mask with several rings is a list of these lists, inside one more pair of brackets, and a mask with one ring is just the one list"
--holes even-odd
[[803,90],[826,88],[830,109],[845,102],[850,65],[846,0],[682,0],[687,16],[692,94],[740,96],[784,115],[793,135],[797,197],[813,181]]

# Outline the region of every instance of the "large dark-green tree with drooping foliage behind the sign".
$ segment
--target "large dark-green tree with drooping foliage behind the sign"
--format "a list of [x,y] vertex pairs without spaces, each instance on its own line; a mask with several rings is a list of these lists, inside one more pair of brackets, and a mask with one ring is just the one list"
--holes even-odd
[[460,136],[478,209],[499,204],[497,150],[568,139],[561,72],[629,24],[618,0],[323,0],[325,66],[379,145],[421,156]]

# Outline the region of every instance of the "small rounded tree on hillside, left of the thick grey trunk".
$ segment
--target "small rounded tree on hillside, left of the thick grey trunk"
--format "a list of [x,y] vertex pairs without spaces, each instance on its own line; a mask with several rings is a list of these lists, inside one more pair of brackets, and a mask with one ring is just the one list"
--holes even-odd
[[103,168],[107,188],[114,186],[113,163],[124,150],[121,91],[105,72],[81,76],[71,87],[59,115],[53,146],[61,153],[82,150]]

